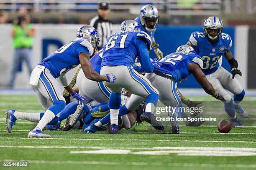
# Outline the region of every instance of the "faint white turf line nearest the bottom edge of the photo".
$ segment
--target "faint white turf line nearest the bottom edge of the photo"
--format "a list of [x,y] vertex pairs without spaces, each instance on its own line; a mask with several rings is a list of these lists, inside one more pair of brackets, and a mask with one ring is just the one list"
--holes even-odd
[[110,162],[110,161],[52,161],[52,160],[0,160],[20,161],[35,164],[78,164],[78,165],[136,165],[136,166],[170,166],[170,167],[223,167],[223,168],[256,168],[255,164],[199,164],[199,163],[159,163],[159,162]]

